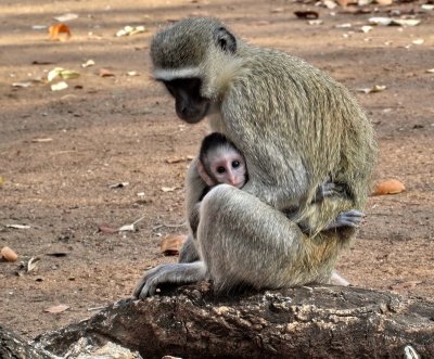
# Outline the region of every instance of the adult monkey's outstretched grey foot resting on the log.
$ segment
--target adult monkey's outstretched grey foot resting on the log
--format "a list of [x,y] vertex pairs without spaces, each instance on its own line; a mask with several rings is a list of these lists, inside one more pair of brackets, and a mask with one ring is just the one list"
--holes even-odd
[[204,280],[206,267],[203,261],[192,264],[161,265],[144,273],[136,286],[132,297],[145,298],[155,294],[159,284],[187,284]]

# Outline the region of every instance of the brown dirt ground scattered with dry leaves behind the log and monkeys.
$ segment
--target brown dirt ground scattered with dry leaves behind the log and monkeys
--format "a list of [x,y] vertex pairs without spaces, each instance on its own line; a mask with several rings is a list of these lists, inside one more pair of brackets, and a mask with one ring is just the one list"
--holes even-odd
[[[188,156],[207,126],[176,117],[150,77],[149,41],[159,26],[197,15],[219,16],[253,43],[304,57],[355,92],[379,141],[374,180],[395,178],[407,190],[370,197],[366,223],[337,269],[354,285],[434,299],[434,11],[421,10],[427,1],[333,10],[314,0],[1,1],[0,247],[20,257],[0,262],[0,322],[34,337],[129,296],[146,268],[176,260],[159,253],[159,241],[186,233],[170,226],[183,222]],[[295,17],[307,9],[323,23]],[[369,17],[399,17],[397,11],[420,25],[360,30]],[[68,41],[33,28],[65,13],[78,15],[66,22]],[[126,25],[146,30],[115,37]],[[88,60],[95,65],[81,67]],[[80,76],[62,91],[31,81],[54,67]],[[113,76],[102,77],[102,68]],[[357,91],[375,85],[386,89]],[[118,182],[129,184],[110,188]],[[142,217],[135,232],[98,231]],[[36,256],[37,269],[17,275],[20,262]],[[60,304],[69,308],[44,311]]]

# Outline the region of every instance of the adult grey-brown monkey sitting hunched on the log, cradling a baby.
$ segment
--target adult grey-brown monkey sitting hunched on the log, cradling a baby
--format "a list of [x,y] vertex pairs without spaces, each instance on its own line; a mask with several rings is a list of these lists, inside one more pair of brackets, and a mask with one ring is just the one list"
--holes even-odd
[[[178,116],[190,124],[207,116],[244,155],[248,181],[242,190],[213,188],[197,216],[206,183],[193,163],[181,262],[148,271],[133,295],[203,279],[217,291],[328,282],[355,229],[323,229],[343,211],[362,210],[376,152],[370,121],[349,92],[303,60],[245,43],[215,18],[163,29],[151,57]],[[326,178],[343,191],[312,201]]]

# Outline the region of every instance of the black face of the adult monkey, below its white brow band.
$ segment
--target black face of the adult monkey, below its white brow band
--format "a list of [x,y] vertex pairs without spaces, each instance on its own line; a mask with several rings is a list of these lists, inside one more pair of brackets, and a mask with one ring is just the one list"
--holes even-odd
[[201,95],[200,78],[177,78],[163,84],[175,98],[175,110],[179,118],[196,124],[206,116],[210,100]]

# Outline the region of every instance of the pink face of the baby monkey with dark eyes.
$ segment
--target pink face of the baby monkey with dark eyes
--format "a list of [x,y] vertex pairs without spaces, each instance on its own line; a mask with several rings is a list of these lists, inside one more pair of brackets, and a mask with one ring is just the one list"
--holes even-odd
[[238,189],[246,181],[247,168],[244,157],[234,149],[216,151],[209,156],[209,170],[218,183],[226,183]]

